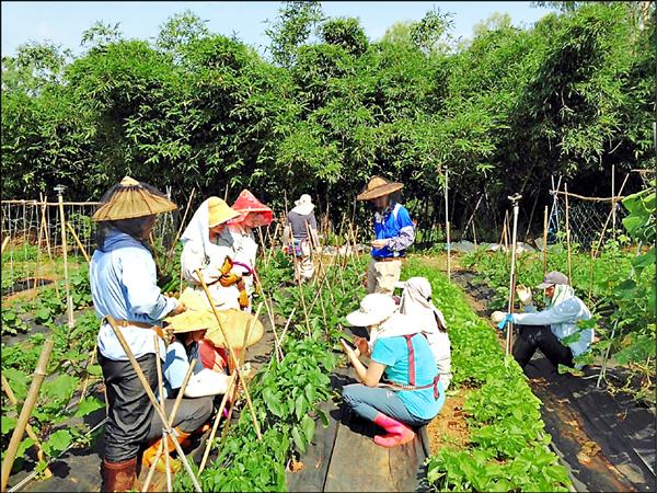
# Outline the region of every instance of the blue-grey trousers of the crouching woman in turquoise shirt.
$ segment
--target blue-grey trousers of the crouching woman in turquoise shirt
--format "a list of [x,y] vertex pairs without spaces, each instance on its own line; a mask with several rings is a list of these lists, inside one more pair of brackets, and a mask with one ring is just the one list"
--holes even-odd
[[374,421],[378,413],[383,413],[410,426],[424,426],[431,421],[411,414],[396,392],[381,387],[367,387],[362,383],[345,386],[343,400],[356,414],[369,421]]

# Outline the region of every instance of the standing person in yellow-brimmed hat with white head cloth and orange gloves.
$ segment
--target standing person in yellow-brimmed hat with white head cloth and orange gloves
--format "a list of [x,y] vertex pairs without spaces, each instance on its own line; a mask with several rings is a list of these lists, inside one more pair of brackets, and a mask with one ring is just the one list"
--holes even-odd
[[[209,197],[194,213],[181,237],[184,244],[181,256],[183,277],[205,297],[196,274],[199,270],[219,310],[240,308],[238,284],[241,275],[233,268],[234,250],[227,230],[228,221],[238,216],[240,213],[221,198]],[[246,298],[245,294],[242,298]]]

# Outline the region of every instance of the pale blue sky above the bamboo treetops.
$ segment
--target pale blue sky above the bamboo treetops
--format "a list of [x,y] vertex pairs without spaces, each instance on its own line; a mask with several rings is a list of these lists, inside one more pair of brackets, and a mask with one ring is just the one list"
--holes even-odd
[[[139,2],[139,1],[2,1],[2,56],[13,56],[16,47],[27,42],[49,41],[73,54],[82,53],[82,33],[96,21],[114,25],[125,38],[154,39],[160,26],[172,15],[191,10],[208,21],[211,33],[238,38],[261,54],[269,44],[265,35],[267,20],[274,20],[284,2]],[[351,16],[360,20],[370,41],[379,39],[388,27],[399,21],[419,21],[434,7],[452,12],[453,35],[471,37],[472,27],[494,12],[508,13],[517,26],[529,26],[549,9],[531,7],[530,2],[418,2],[418,1],[327,1],[324,13],[331,18]]]

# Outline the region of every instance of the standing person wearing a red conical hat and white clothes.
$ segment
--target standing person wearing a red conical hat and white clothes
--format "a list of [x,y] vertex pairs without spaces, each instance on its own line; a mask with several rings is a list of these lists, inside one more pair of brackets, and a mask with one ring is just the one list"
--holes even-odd
[[240,216],[228,221],[228,231],[232,239],[235,270],[242,274],[249,295],[247,311],[250,311],[257,255],[257,241],[253,234],[253,228],[269,225],[274,219],[274,213],[247,190],[240,193],[231,207],[240,213]]

